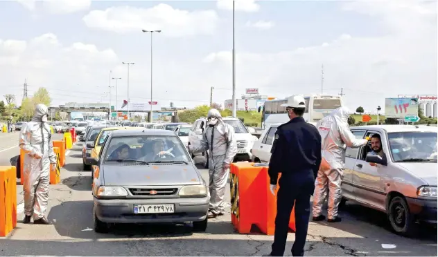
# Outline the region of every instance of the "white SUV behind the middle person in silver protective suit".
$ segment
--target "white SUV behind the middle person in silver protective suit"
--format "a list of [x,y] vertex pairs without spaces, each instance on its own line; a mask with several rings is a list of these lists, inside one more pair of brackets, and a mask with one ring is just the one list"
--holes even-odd
[[[249,133],[247,127],[240,122],[239,119],[235,117],[223,117],[222,120],[233,126],[235,131],[235,137],[237,141],[237,154],[234,157],[234,162],[236,161],[250,161],[252,160],[252,145],[258,140],[257,137]],[[207,127],[207,118],[200,117],[198,120],[193,122],[193,126],[189,131],[189,145],[198,146],[202,140],[202,133]],[[202,153],[205,156],[204,167],[207,169],[209,166],[209,155],[207,152]],[[192,155],[192,158],[194,155]]]

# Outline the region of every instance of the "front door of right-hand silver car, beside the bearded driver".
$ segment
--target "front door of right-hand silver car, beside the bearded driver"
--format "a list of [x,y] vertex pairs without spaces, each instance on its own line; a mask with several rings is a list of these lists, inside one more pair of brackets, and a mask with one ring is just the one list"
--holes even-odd
[[[367,130],[365,136],[371,137],[375,133],[380,135],[381,144],[385,146],[385,137],[379,131]],[[385,210],[387,166],[380,164],[371,166],[369,162],[365,162],[365,157],[370,151],[371,147],[369,145],[360,147],[358,159],[353,166],[353,193],[358,202],[365,203],[376,209]],[[385,149],[383,151],[386,153]]]

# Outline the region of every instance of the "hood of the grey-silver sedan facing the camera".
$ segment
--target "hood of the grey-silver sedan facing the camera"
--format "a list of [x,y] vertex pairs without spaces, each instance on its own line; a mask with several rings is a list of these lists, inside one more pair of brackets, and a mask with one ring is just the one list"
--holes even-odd
[[105,186],[166,186],[202,184],[193,164],[105,164]]

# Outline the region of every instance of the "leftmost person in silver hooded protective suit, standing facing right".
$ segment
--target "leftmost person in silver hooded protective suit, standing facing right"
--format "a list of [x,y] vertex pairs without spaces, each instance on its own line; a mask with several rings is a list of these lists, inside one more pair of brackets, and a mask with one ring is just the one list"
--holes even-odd
[[44,104],[37,104],[33,119],[21,128],[19,147],[24,155],[24,220],[34,224],[51,225],[44,216],[49,202],[50,168],[56,168],[51,131],[47,124],[49,110]]

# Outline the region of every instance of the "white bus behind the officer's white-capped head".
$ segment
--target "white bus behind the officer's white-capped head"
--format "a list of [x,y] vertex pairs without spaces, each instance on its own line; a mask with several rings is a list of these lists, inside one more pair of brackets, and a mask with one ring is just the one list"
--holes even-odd
[[[304,99],[306,100],[304,120],[314,125],[331,111],[344,105],[342,97],[339,95],[304,95]],[[261,115],[263,129],[268,128],[270,124],[289,121],[286,107],[281,107],[281,104],[286,104],[286,102],[288,102],[287,97],[286,99],[265,102]]]

